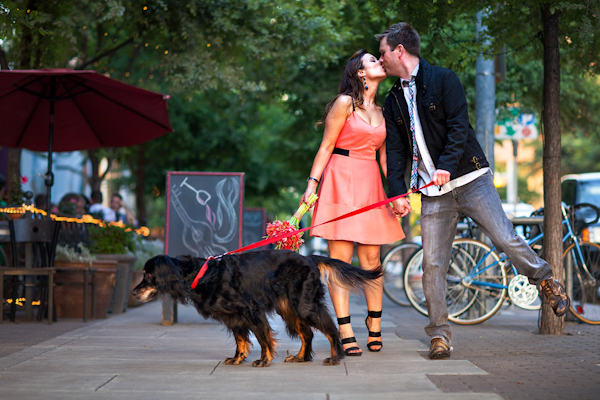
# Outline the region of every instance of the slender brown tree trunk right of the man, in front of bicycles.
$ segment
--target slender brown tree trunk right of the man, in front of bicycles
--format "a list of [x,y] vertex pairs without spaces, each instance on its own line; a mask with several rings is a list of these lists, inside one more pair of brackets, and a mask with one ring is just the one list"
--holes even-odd
[[[558,21],[560,13],[542,7],[544,29],[544,256],[552,266],[554,278],[564,283],[562,264],[562,213],[560,209],[560,55]],[[561,335],[563,318],[557,318],[544,299],[542,303],[541,334]]]

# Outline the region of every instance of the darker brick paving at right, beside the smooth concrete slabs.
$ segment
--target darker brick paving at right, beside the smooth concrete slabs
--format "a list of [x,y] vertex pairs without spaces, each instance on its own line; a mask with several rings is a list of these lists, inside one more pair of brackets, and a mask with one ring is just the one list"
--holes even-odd
[[[402,307],[387,310],[399,337],[428,341],[426,317]],[[540,335],[538,314],[503,306],[483,324],[453,324],[450,359],[469,360],[488,374],[429,378],[446,393],[492,392],[511,400],[600,399],[600,325],[567,321],[563,335]]]

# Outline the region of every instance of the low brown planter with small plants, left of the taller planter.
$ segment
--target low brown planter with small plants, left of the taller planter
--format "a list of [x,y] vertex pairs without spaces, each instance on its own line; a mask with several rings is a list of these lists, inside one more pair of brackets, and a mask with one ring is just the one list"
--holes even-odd
[[[83,243],[78,243],[77,247],[57,245],[54,267],[54,304],[58,318],[83,317],[83,272],[88,270],[89,273],[90,269],[94,290],[93,293],[88,291],[88,315],[106,318],[115,287],[116,261],[97,260]],[[92,295],[95,296],[94,301]],[[93,314],[92,304],[95,304]]]

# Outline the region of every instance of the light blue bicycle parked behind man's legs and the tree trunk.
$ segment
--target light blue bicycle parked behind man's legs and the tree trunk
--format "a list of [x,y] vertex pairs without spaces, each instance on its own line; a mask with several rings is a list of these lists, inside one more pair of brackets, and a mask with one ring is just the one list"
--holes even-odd
[[[569,210],[574,215],[583,207],[596,213],[594,221],[582,224],[585,227],[598,220],[600,210],[589,204],[573,206]],[[570,311],[583,322],[600,324],[600,246],[580,241],[564,206],[562,212],[563,225],[567,228],[563,243],[570,241],[563,253],[563,263],[567,263],[568,294],[572,299]],[[539,245],[543,237],[541,231],[526,242],[530,246]],[[413,307],[427,315],[421,264],[422,250],[407,265],[404,288]],[[535,310],[541,306],[537,289],[516,272],[507,256],[500,256],[495,247],[474,239],[453,242],[447,284],[448,319],[457,324],[472,325],[491,318],[507,297],[524,309]]]

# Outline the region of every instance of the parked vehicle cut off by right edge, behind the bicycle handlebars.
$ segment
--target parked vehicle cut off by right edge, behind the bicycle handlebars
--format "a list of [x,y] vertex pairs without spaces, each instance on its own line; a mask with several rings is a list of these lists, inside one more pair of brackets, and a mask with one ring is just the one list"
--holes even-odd
[[[600,208],[600,172],[565,175],[561,179],[562,201],[567,205],[588,203]],[[590,208],[582,209],[577,219],[586,221],[596,219],[596,212]],[[582,231],[584,240],[600,243],[600,222],[590,225]]]

